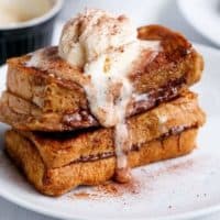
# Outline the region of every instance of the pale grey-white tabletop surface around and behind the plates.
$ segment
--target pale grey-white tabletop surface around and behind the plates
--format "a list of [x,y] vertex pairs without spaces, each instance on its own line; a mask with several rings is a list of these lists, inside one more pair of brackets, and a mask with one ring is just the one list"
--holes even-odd
[[[130,0],[132,1],[132,0]],[[147,2],[152,6],[151,0],[135,0],[136,8],[142,8],[143,11],[143,2],[147,4]],[[67,18],[72,16],[77,10],[85,8],[86,2],[85,0],[65,0],[66,6],[64,7],[63,12],[59,15],[59,21],[65,21]],[[111,2],[110,8],[113,10],[116,6]],[[127,0],[127,2],[129,2]],[[175,30],[178,30],[183,32],[189,40],[206,44],[209,46],[216,46],[210,41],[204,38],[198,32],[196,32],[182,16],[178,7],[176,4],[176,1],[174,0],[154,0],[153,1],[153,8],[145,7],[146,11],[146,23],[161,23],[164,25],[167,25],[169,28],[173,28]],[[90,0],[90,3],[94,4],[96,8],[98,6],[96,4],[96,0]],[[102,7],[106,8],[106,6],[102,2]],[[109,6],[108,6],[109,8]],[[120,6],[121,8],[121,6]],[[129,7],[127,6],[127,9],[129,10]],[[152,10],[154,9],[154,10]],[[116,10],[119,10],[119,7],[116,8]],[[139,22],[139,21],[138,21]],[[57,42],[57,37],[55,37],[55,41]],[[8,202],[0,198],[0,220],[53,220],[53,218],[44,217],[38,213],[34,213],[32,211],[25,210],[23,208],[18,207],[16,205],[13,205],[11,202]],[[201,219],[201,218],[200,218]],[[220,219],[220,213],[216,213],[206,218],[202,218],[201,220],[216,220]]]

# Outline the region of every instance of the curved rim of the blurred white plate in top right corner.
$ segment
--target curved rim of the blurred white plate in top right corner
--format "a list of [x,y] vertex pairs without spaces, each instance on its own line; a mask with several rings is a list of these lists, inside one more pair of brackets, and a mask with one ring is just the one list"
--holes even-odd
[[182,12],[183,16],[185,18],[185,20],[188,22],[188,24],[191,28],[194,28],[198,33],[200,33],[205,38],[209,40],[217,46],[220,46],[220,41],[218,41],[216,37],[212,37],[212,35],[207,34],[206,29],[200,29],[200,28],[198,28],[198,25],[196,25],[194,22],[191,22],[190,13],[188,13],[188,11],[187,11],[188,3],[189,3],[189,1],[183,1],[183,0],[177,1],[178,9]]

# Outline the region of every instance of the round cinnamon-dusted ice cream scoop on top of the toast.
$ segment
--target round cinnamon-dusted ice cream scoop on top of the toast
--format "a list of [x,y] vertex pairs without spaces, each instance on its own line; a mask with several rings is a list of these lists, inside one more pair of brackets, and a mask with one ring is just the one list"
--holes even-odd
[[135,40],[136,30],[127,16],[87,10],[66,23],[58,50],[69,64],[84,67]]

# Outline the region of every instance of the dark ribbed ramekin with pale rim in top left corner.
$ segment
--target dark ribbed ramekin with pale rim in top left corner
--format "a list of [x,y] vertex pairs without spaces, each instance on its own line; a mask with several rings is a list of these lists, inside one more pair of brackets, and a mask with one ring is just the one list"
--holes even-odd
[[52,9],[44,15],[9,28],[0,28],[0,65],[52,43],[55,19],[63,0],[52,0]]

